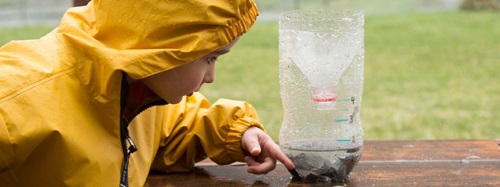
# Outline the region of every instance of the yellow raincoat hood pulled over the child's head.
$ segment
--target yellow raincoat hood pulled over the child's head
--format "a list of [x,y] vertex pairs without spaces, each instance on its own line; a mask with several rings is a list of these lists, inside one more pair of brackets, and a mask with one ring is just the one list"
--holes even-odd
[[100,90],[117,70],[142,79],[194,61],[247,32],[257,15],[246,0],[93,0],[70,9],[56,32],[69,58],[100,63],[80,64],[88,84],[96,81],[86,72],[101,72],[102,85],[89,85]]

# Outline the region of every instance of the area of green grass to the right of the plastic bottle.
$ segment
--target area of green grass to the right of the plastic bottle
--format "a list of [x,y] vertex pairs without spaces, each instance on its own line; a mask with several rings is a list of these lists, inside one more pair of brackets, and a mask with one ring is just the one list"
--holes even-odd
[[499,138],[498,18],[486,12],[368,18],[367,137]]

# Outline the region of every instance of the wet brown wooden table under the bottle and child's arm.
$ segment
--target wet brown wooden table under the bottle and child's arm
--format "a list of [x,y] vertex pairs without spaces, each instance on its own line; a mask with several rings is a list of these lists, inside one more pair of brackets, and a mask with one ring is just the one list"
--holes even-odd
[[[209,160],[187,173],[151,173],[146,186],[336,186],[291,179],[279,164],[267,175]],[[367,141],[345,186],[500,186],[500,140]]]

